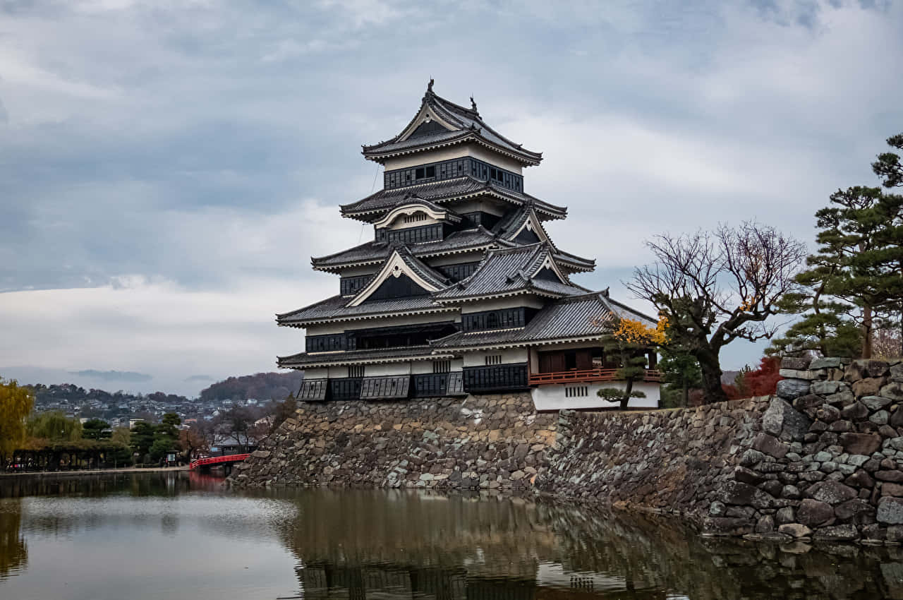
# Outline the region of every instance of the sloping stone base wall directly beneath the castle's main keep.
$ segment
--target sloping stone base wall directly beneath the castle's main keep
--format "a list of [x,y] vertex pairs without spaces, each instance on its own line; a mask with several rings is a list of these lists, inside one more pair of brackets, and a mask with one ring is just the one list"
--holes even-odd
[[299,406],[242,464],[237,485],[527,487],[547,464],[555,414],[529,394]]

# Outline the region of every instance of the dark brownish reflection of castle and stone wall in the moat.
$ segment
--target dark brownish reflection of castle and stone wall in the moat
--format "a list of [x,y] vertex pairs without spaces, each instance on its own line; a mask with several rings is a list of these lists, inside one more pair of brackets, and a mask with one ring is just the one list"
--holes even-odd
[[304,598],[903,598],[900,548],[702,538],[672,520],[510,497],[305,493]]

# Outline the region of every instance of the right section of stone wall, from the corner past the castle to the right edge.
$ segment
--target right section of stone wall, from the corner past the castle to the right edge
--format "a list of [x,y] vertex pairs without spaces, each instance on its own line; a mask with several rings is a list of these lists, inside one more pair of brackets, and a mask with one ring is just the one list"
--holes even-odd
[[714,533],[903,542],[903,362],[784,359],[781,374],[773,398],[563,411],[537,487]]

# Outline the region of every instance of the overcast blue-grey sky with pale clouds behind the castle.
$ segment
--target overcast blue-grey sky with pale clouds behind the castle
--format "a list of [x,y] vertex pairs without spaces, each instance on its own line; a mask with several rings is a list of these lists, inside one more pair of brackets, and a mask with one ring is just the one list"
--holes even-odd
[[339,287],[309,258],[372,236],[338,210],[381,185],[360,145],[431,77],[544,153],[526,191],[599,265],[575,281],[639,305],[620,282],[656,233],[811,243],[903,131],[901,59],[889,2],[0,0],[0,375],[194,394],[275,370],[303,333],[274,314]]

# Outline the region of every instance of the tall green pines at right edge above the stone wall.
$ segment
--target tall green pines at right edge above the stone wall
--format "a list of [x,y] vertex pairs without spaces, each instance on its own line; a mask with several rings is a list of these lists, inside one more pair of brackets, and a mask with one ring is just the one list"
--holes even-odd
[[[903,135],[888,143],[903,148]],[[872,170],[885,187],[903,186],[898,155],[879,155]],[[805,291],[781,304],[783,312],[803,317],[769,354],[871,358],[876,328],[903,327],[903,196],[856,186],[830,200],[815,213],[818,251],[796,277]]]

